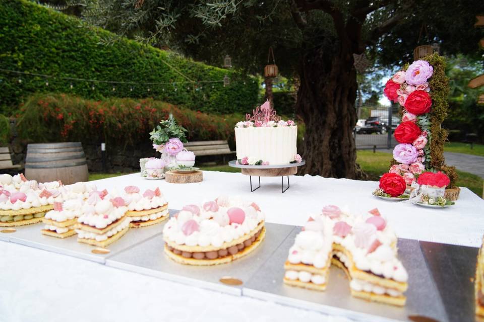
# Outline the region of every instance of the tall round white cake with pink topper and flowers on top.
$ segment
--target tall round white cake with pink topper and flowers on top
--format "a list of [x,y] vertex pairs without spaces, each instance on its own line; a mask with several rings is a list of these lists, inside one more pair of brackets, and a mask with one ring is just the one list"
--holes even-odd
[[297,160],[297,126],[282,121],[269,102],[235,127],[237,159],[243,165],[287,165]]

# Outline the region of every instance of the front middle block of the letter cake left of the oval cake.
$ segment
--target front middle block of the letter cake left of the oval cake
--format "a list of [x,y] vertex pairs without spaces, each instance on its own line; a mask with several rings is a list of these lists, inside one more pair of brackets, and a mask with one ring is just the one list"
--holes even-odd
[[108,198],[107,192],[92,192],[75,225],[77,241],[98,247],[112,244],[130,228],[127,211],[122,197]]

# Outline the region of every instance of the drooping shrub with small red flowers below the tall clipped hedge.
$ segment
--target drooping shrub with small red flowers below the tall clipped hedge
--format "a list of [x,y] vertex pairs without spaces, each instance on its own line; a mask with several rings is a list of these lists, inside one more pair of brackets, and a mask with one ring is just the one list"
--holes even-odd
[[152,99],[86,100],[65,94],[37,94],[21,108],[17,131],[28,142],[81,141],[136,146],[172,113],[188,140],[234,140],[243,116],[208,115]]

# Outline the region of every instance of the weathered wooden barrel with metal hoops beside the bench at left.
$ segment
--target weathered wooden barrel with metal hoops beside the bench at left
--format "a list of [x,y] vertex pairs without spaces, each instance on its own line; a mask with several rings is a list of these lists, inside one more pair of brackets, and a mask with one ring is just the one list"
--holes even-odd
[[88,180],[86,156],[81,142],[27,145],[25,177],[38,182],[61,180],[70,185]]

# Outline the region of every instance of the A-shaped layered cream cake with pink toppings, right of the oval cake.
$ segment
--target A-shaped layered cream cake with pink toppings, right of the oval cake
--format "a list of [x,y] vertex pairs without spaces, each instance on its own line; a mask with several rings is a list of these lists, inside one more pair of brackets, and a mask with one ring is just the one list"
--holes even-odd
[[397,258],[396,242],[377,209],[352,216],[336,206],[325,207],[296,236],[284,282],[324,290],[331,261],[347,274],[351,295],[403,306],[408,274]]

